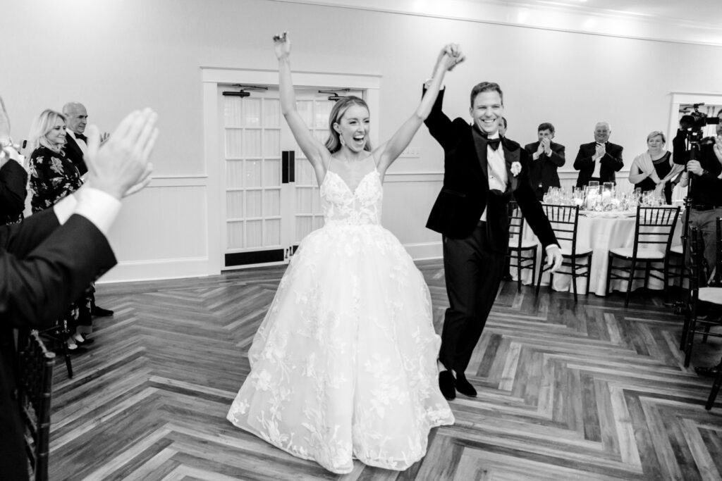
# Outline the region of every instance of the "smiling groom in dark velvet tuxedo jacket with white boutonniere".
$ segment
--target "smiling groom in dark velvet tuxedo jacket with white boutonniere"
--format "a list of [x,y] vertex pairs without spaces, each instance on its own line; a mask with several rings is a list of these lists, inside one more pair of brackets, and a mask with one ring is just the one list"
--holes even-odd
[[448,400],[456,391],[476,396],[464,371],[482,335],[503,276],[509,245],[507,204],[513,196],[547,250],[553,270],[562,254],[552,226],[528,180],[529,154],[500,138],[504,113],[498,84],[471,89],[472,123],[441,110],[444,91],[425,124],[444,149],[444,181],[426,226],[443,234],[446,309],[439,351],[439,387]]

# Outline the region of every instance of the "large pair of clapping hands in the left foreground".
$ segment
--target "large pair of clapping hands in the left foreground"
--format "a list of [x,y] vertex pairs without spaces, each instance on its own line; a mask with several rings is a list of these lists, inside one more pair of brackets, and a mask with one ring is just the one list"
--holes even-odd
[[157,114],[150,109],[132,112],[124,118],[113,136],[100,146],[100,132],[88,128],[88,185],[115,198],[123,198],[149,184],[152,164],[150,153],[158,137]]

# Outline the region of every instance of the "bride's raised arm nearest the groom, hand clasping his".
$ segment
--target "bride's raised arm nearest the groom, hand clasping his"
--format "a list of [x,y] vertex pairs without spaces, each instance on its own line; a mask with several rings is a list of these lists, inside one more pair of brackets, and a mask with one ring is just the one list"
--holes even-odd
[[446,71],[453,69],[457,63],[462,61],[464,61],[464,55],[456,43],[450,43],[441,50],[434,66],[434,75],[424,97],[421,99],[421,103],[419,103],[419,107],[417,107],[409,120],[406,120],[404,125],[401,125],[401,128],[393,134],[386,144],[378,146],[374,151],[378,171],[381,175],[383,175],[386,169],[393,164],[393,161],[401,155],[401,152],[409,146],[409,142],[411,142],[411,139],[414,138],[421,124],[424,123],[424,120],[429,116],[431,107],[433,107],[434,102],[436,102],[436,97],[438,97]]

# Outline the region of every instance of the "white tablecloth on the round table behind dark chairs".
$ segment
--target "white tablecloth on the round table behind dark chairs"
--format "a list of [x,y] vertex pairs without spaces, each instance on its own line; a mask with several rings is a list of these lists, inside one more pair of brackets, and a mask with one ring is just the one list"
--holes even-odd
[[[680,213],[679,217],[682,217]],[[585,212],[580,213],[577,224],[577,250],[584,247],[591,247],[593,255],[591,258],[591,273],[589,275],[589,292],[598,296],[606,295],[606,271],[609,267],[609,250],[615,247],[633,247],[634,231],[635,231],[635,213],[606,213],[606,212]],[[672,245],[680,244],[680,227],[681,220],[677,221],[677,229],[674,232]],[[534,233],[529,229],[528,224],[524,224],[525,239],[536,239]],[[540,244],[541,245],[541,244]],[[658,248],[664,251],[664,245],[659,244],[654,247],[646,245],[647,248]],[[537,258],[541,260],[541,247],[539,247]],[[615,260],[614,265],[621,265],[621,261]],[[566,269],[566,268],[562,268]],[[638,270],[638,275],[641,271]],[[516,280],[516,268],[511,268],[511,275]],[[537,266],[536,275],[539,275],[539,266]],[[523,283],[531,283],[531,269],[523,270],[521,273]],[[536,279],[534,279],[536,283]],[[541,278],[541,285],[549,285],[549,273],[544,273]],[[632,288],[643,286],[642,281],[635,281]],[[655,278],[650,278],[648,287],[651,289],[664,288],[663,282]],[[554,291],[571,291],[571,276],[563,274],[554,274]],[[612,281],[612,290],[627,291],[626,281]],[[586,278],[577,278],[577,294],[585,294]]]

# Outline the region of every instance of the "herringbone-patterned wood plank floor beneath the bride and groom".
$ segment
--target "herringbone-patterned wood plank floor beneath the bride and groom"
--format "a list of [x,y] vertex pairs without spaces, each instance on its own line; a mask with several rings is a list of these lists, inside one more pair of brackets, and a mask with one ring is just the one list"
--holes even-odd
[[[440,262],[422,262],[440,332]],[[51,480],[336,479],[225,420],[283,268],[99,286],[95,344],[58,363]],[[682,367],[681,317],[658,296],[535,298],[503,285],[467,371],[475,399],[406,472],[344,480],[719,480],[722,404]],[[705,346],[715,353],[718,345]],[[722,399],[721,399],[722,401]]]

